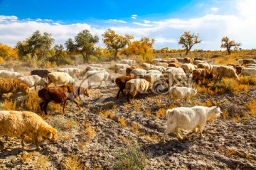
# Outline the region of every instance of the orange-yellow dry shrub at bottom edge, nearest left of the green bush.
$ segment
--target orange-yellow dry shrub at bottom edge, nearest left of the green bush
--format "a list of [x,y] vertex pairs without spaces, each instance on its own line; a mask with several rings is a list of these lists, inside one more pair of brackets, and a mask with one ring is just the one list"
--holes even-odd
[[68,154],[68,157],[60,164],[62,170],[79,170],[85,169],[78,155]]

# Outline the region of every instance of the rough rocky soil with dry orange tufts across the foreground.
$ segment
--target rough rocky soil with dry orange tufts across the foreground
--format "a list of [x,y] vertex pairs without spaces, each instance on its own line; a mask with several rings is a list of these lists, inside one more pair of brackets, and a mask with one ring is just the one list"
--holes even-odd
[[[0,137],[5,142],[0,169],[113,169],[119,161],[118,153],[133,142],[146,156],[144,169],[256,169],[255,117],[235,119],[235,115],[250,112],[245,104],[256,100],[255,88],[237,95],[198,94],[191,103],[175,104],[169,103],[168,96],[155,94],[142,94],[127,104],[122,94],[117,100],[114,84],[107,89],[94,87],[90,93],[90,98],[80,98],[82,111],[71,101],[64,114],[48,108],[49,115],[43,118],[58,129],[58,141],[43,140],[42,151],[36,150],[30,139],[22,148],[20,138]],[[165,144],[159,143],[166,123],[161,111],[224,98],[227,101],[220,108],[228,117],[222,115],[207,123],[203,137],[191,135],[177,140],[170,134]]]

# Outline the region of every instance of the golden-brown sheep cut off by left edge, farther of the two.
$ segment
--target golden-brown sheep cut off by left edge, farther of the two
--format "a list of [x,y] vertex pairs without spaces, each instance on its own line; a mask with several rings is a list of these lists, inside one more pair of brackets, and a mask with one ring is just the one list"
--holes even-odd
[[18,92],[28,94],[29,87],[18,79],[0,78],[0,95],[9,93],[16,95]]

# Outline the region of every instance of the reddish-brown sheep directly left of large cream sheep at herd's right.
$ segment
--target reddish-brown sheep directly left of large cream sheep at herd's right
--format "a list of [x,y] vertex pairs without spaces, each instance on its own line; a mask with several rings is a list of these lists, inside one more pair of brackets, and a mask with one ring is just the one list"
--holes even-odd
[[201,83],[203,83],[204,79],[213,78],[213,74],[211,74],[208,69],[194,69],[192,75],[193,81],[196,81],[196,84],[198,84],[198,81],[201,81]]

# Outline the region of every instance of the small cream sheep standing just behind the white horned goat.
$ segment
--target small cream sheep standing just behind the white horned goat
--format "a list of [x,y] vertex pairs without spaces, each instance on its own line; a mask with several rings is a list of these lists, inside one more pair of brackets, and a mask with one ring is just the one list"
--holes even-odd
[[195,94],[197,94],[196,89],[188,87],[173,86],[169,89],[169,98],[170,101],[172,100],[173,102],[180,99],[185,99],[190,102],[191,96]]

